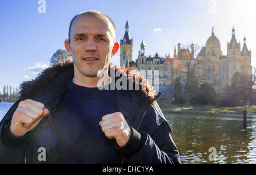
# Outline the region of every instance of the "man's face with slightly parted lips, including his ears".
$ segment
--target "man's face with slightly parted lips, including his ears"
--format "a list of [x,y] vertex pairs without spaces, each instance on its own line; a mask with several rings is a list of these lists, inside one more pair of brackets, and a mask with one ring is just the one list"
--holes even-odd
[[[74,60],[75,74],[97,77],[102,70],[108,69],[114,45],[114,29],[108,20],[93,16],[78,16],[71,28],[69,55]],[[119,47],[119,45],[118,45]],[[117,48],[118,49],[118,48]]]

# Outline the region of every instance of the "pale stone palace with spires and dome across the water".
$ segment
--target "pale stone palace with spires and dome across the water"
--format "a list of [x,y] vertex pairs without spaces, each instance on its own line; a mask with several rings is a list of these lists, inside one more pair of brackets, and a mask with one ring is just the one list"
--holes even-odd
[[[125,35],[120,41],[120,66],[136,66],[137,70],[150,70],[152,74],[147,74],[147,78],[152,80],[152,85],[171,85],[175,78],[187,76],[188,67],[193,67],[195,74],[200,78],[200,82],[208,82],[216,91],[222,91],[232,82],[234,73],[240,72],[251,75],[251,51],[247,49],[246,38],[243,38],[243,47],[237,43],[234,27],[232,38],[227,45],[227,55],[222,55],[220,41],[214,35],[208,38],[205,47],[202,47],[199,54],[194,57],[194,44],[191,49],[181,48],[180,43],[174,49],[174,56],[166,55],[159,57],[145,55],[146,44],[144,39],[141,43],[141,51],[138,59],[132,61],[133,39],[129,35],[128,21],[125,26]],[[203,61],[199,61],[203,60]],[[200,64],[199,64],[200,62]],[[154,75],[154,70],[158,70],[158,75]],[[158,78],[159,84],[154,84],[154,79]]]

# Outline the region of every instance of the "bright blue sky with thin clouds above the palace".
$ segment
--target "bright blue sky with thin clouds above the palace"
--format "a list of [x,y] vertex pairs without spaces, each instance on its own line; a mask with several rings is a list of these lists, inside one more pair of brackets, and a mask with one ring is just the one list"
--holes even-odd
[[[81,11],[98,10],[115,23],[117,41],[125,34],[126,19],[134,40],[133,60],[137,59],[142,37],[146,55],[174,53],[177,43],[205,45],[214,33],[226,54],[226,44],[236,29],[237,41],[246,36],[256,67],[256,1],[250,0],[45,0],[46,13],[39,13],[39,0],[12,0],[0,4],[0,92],[3,85],[19,86],[35,78],[49,64],[53,53],[64,49],[68,26]],[[113,57],[119,65],[119,51]]]

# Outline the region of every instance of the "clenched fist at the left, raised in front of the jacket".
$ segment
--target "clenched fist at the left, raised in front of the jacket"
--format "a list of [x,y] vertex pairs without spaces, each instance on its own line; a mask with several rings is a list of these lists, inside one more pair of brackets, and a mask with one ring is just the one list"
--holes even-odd
[[34,129],[40,120],[49,114],[48,109],[44,108],[44,104],[26,99],[20,101],[19,106],[11,119],[10,131],[15,137],[21,137],[28,131]]

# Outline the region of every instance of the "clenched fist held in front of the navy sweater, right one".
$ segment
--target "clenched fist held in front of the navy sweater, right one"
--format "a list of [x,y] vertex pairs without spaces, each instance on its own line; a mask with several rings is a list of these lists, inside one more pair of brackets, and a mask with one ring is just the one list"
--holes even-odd
[[107,138],[114,138],[119,147],[123,147],[130,139],[131,128],[122,113],[117,112],[104,115],[99,124]]

